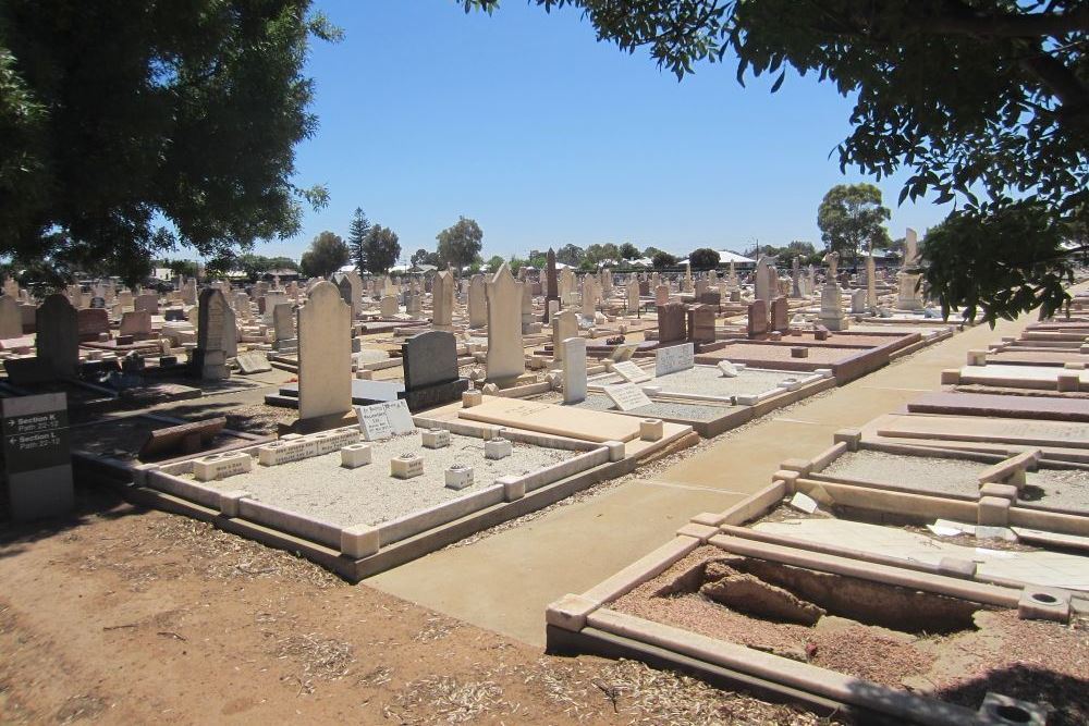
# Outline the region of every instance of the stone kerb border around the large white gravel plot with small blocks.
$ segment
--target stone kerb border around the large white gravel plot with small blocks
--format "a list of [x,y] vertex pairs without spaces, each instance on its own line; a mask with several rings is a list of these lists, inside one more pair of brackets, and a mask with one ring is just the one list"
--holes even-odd
[[[211,455],[210,452],[166,464],[134,466],[127,462],[108,462],[110,476],[100,480],[120,487],[131,501],[209,521],[225,531],[296,552],[348,580],[358,581],[472,533],[540,509],[599,481],[627,473],[636,465],[634,457],[624,456],[624,447],[619,442],[594,444],[460,421],[425,421],[420,417],[414,417],[414,421],[419,427],[439,427],[451,433],[486,440],[499,435],[501,430],[502,436],[511,441],[582,453],[524,476],[504,477],[484,490],[376,527],[340,527],[253,500],[242,490],[224,491],[179,476],[189,473],[193,462]],[[343,427],[309,435],[328,436],[341,431],[358,429]],[[257,448],[266,443],[268,441],[230,451],[256,456]],[[334,454],[337,452],[328,455]]]

